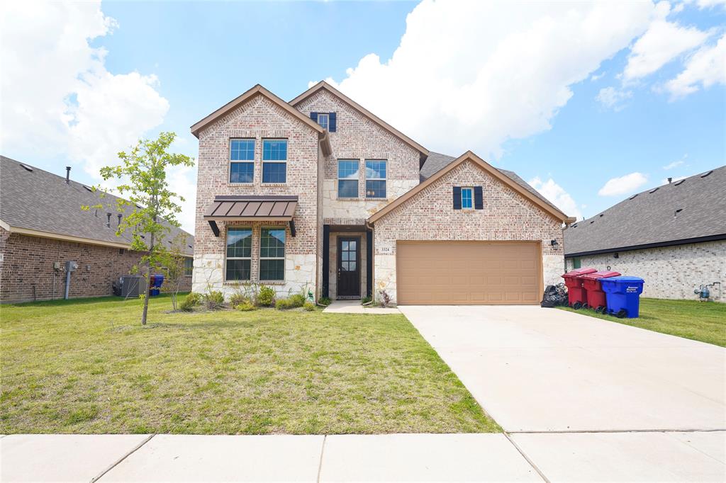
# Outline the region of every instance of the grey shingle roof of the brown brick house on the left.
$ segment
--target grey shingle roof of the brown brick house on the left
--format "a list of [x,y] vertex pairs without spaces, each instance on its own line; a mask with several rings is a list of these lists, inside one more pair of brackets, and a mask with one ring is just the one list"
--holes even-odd
[[[0,156],[0,226],[11,233],[129,248],[130,236],[116,236],[118,212],[113,209],[81,210],[81,206],[114,204],[111,194],[28,164]],[[107,212],[111,213],[110,227]],[[131,212],[127,208],[127,212]],[[194,254],[194,237],[170,226],[167,242],[184,234],[186,255]]]

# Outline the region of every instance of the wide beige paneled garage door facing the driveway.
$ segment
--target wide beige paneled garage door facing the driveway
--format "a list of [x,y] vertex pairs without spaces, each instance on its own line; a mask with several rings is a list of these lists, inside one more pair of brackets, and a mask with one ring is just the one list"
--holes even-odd
[[539,243],[399,241],[398,303],[523,305],[542,298]]

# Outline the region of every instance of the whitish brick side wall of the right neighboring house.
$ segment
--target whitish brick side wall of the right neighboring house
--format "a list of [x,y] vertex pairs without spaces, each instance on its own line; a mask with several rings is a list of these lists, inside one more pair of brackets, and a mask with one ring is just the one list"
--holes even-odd
[[[711,298],[726,302],[726,240],[706,241],[628,252],[580,257],[582,267],[613,270],[645,280],[643,297],[656,299],[698,300],[693,290],[701,284],[721,282],[721,289],[711,287]],[[572,270],[573,259],[567,259]]]

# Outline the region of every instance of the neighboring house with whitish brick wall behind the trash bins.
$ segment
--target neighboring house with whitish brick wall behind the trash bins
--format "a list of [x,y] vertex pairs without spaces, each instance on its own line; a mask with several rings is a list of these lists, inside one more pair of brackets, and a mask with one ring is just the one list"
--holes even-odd
[[643,297],[726,302],[726,166],[634,194],[565,232],[567,269],[645,279]]

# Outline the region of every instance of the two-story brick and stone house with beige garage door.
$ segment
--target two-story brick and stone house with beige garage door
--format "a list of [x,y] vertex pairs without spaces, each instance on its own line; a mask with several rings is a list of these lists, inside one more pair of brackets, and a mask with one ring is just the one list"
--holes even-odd
[[429,152],[325,82],[255,86],[192,125],[193,289],[534,304],[571,221],[510,171]]

